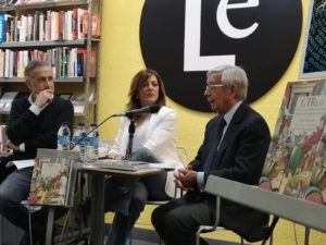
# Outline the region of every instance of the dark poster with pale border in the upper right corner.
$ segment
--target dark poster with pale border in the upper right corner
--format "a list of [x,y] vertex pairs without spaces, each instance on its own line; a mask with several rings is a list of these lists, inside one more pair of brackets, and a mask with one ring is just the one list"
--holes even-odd
[[326,77],[326,0],[311,0],[299,78]]

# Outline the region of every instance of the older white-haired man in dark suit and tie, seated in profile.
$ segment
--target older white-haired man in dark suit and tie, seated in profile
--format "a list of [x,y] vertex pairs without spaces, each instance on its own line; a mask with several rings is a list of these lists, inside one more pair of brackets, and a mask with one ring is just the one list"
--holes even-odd
[[[177,185],[188,193],[152,213],[152,223],[166,245],[196,244],[199,225],[214,223],[215,197],[203,192],[210,174],[258,185],[271,136],[265,120],[243,102],[247,88],[246,72],[238,66],[208,72],[204,95],[218,115],[206,124],[195,160],[175,175]],[[268,222],[267,215],[228,200],[222,200],[220,219],[220,225],[249,242],[260,240]]]

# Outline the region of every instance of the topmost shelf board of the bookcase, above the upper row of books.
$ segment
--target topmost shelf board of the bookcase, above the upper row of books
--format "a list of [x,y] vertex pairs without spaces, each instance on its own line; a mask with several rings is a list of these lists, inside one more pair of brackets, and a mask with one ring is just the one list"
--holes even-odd
[[41,1],[39,0],[38,3],[33,3],[33,4],[12,4],[9,7],[0,7],[0,11],[5,12],[5,11],[16,11],[16,10],[35,10],[35,9],[48,9],[48,8],[61,8],[61,7],[78,7],[78,5],[87,5],[88,0],[63,0],[63,1]]

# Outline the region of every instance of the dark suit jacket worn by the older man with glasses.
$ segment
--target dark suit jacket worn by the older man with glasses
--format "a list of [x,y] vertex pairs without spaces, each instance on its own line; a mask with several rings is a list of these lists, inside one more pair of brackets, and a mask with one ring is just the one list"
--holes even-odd
[[[267,124],[259,113],[242,102],[216,152],[220,120],[221,118],[216,117],[208,123],[204,142],[191,162],[192,169],[202,171],[203,164],[213,161],[210,170],[204,173],[204,182],[210,174],[213,174],[258,185],[271,140]],[[190,195],[199,195],[199,193],[195,192]],[[205,194],[204,198],[208,199],[212,210],[215,210],[215,197]],[[249,242],[260,240],[263,226],[268,222],[267,215],[229,200],[222,200],[220,219],[221,225],[235,231]]]

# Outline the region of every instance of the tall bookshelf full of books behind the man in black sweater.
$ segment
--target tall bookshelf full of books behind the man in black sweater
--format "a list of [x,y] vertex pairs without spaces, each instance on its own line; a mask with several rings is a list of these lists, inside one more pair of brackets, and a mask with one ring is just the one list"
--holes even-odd
[[84,111],[75,112],[76,121],[97,122],[101,10],[102,0],[0,4],[0,98],[5,91],[28,91],[22,77],[24,62],[40,58],[53,68],[55,94],[84,95]]

